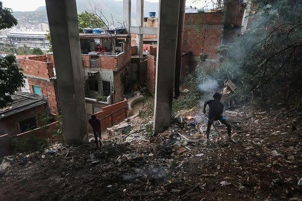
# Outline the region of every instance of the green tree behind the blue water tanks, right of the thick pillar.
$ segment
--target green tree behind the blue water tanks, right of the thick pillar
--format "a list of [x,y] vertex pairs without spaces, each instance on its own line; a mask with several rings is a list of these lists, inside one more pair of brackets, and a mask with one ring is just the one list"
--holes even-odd
[[82,29],[86,27],[97,28],[105,26],[102,20],[100,20],[93,13],[88,13],[87,11],[78,14],[78,21],[80,32],[82,32]]

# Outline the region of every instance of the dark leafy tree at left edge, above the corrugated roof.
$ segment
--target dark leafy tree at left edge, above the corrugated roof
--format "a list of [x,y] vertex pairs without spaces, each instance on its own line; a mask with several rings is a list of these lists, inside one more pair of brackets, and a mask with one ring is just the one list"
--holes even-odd
[[18,68],[16,57],[8,55],[0,58],[0,108],[13,102],[6,93],[13,94],[22,86],[24,86],[23,73]]

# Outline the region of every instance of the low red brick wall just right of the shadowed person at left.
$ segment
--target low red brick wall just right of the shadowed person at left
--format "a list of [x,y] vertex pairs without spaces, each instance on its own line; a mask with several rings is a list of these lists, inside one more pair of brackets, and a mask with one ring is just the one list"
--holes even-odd
[[[97,118],[101,120],[102,130],[115,125],[116,123],[123,121],[127,118],[128,101],[124,98],[124,101],[102,108],[101,112],[95,113]],[[112,124],[113,123],[113,124]],[[88,128],[92,131],[91,126],[88,123]]]

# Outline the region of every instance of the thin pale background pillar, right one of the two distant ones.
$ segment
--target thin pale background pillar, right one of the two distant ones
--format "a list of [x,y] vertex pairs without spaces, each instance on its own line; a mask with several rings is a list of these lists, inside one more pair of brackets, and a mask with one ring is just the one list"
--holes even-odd
[[144,0],[136,0],[136,26],[139,27],[139,34],[136,35],[136,43],[139,57],[143,56],[144,38],[141,27],[144,26]]

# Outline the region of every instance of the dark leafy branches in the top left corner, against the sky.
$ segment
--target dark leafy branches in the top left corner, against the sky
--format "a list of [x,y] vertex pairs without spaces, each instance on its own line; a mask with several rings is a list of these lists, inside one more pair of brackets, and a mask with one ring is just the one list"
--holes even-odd
[[3,8],[0,2],[0,29],[11,28],[17,25],[17,19],[12,15],[12,9]]

